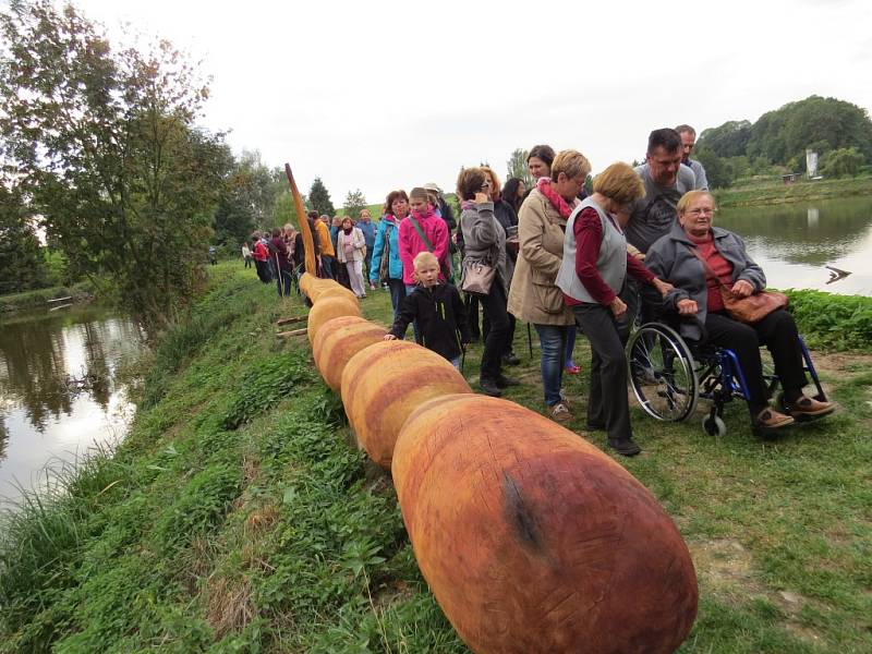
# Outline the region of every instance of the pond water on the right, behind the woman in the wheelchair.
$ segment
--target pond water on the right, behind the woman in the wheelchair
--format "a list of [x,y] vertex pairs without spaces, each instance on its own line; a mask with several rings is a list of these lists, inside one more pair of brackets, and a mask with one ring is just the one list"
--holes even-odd
[[[724,209],[716,221],[744,239],[773,287],[872,295],[872,198]],[[828,283],[825,266],[851,275]]]

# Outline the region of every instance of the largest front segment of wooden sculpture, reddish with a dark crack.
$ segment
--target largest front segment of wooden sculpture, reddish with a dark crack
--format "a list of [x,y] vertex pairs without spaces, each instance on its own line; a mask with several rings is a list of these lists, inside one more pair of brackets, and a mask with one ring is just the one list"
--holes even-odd
[[473,651],[667,653],[687,637],[697,577],[675,524],[553,421],[485,396],[428,401],[392,475],[421,571]]

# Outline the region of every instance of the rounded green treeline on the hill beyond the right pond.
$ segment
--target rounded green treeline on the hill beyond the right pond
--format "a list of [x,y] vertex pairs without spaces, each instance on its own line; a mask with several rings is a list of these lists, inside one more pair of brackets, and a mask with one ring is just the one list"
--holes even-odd
[[806,150],[820,157],[824,177],[850,177],[872,162],[872,121],[865,109],[811,96],[768,111],[756,122],[725,122],[704,130],[694,156],[713,187],[758,174],[806,172]]

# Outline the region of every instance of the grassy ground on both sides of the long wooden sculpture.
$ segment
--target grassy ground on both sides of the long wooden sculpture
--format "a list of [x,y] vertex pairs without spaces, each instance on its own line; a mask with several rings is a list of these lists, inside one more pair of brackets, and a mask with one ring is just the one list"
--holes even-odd
[[[301,303],[237,262],[210,272],[154,354],[116,456],[0,526],[0,652],[467,652],[307,342],[275,337]],[[363,307],[387,323],[387,292]],[[538,410],[538,351],[520,323],[516,350],[523,384],[509,397]],[[844,410],[777,440],[752,436],[740,405],[723,438],[701,414],[663,425],[633,410],[644,452],[620,463],[674,517],[700,578],[681,652],[872,649],[872,356],[820,363]],[[586,386],[567,379],[577,432]]]

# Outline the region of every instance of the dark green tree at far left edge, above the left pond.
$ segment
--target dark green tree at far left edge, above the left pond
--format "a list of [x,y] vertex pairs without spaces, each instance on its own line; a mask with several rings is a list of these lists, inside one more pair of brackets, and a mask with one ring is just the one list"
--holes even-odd
[[0,294],[46,284],[46,266],[21,196],[0,183]]

